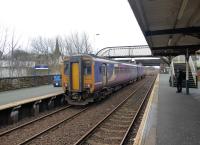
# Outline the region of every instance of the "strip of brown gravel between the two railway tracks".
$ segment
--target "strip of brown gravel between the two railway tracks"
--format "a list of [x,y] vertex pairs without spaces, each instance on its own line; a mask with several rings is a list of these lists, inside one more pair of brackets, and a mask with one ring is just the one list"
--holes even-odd
[[114,109],[122,100],[124,100],[124,98],[136,89],[139,83],[142,83],[143,81],[144,80],[134,83],[133,85],[129,85],[121,89],[120,93],[118,91],[117,93],[111,95],[108,99],[91,105],[89,110],[80,114],[77,118],[60,125],[60,127],[56,130],[42,135],[30,144],[72,145],[97,122],[99,122],[99,120],[105,117],[107,113]]

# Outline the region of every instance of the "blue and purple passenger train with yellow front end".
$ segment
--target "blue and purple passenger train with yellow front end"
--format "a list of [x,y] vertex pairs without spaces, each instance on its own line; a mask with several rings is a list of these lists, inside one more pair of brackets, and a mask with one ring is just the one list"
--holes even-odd
[[78,54],[65,57],[62,67],[65,100],[72,105],[99,101],[145,76],[144,66]]

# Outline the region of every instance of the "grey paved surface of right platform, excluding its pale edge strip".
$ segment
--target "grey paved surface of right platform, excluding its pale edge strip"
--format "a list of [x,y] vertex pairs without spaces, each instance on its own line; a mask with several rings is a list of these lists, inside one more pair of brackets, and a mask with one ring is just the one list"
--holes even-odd
[[157,117],[157,145],[200,145],[200,89],[176,93],[161,74]]

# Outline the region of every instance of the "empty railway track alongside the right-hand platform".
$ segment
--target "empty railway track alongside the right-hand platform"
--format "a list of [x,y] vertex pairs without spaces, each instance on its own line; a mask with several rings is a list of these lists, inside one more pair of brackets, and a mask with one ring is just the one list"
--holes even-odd
[[[84,134],[74,145],[124,145],[128,141],[129,134],[151,91],[153,82],[145,82],[138,87],[137,90],[131,93],[106,117]],[[147,89],[144,89],[144,86]]]

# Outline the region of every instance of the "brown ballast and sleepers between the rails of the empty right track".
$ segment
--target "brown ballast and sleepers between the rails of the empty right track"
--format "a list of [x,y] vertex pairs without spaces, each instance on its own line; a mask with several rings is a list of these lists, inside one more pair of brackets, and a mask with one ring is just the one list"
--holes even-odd
[[[93,134],[87,138],[84,144],[120,144],[122,141],[129,125],[132,122],[132,119],[136,115],[136,111],[138,110],[143,98],[144,94],[147,92],[150,83],[147,82],[144,84],[142,88],[140,88],[130,99],[128,99],[125,104],[123,104],[116,112],[114,112],[109,118],[107,118],[94,132]],[[128,114],[126,112],[129,112]],[[132,117],[130,117],[132,114]],[[123,117],[124,116],[124,117]],[[126,118],[126,119],[122,119]],[[105,125],[105,122],[109,123],[110,126]],[[115,125],[113,125],[115,124]],[[127,126],[123,129],[116,130],[117,125]]]

